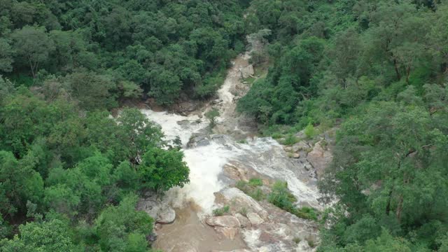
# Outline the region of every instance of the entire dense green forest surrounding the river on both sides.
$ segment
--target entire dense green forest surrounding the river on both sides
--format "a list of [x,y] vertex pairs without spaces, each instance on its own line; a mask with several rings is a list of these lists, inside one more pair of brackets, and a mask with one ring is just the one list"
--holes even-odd
[[[153,251],[139,195],[188,183],[131,100],[214,97],[263,136],[337,127],[317,251],[448,251],[448,2],[0,0],[0,251]],[[120,116],[111,111],[120,108]]]

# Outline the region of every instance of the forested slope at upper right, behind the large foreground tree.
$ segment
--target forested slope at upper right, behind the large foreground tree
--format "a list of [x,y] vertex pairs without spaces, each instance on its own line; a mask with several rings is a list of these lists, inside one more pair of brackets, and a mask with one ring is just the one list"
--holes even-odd
[[239,110],[268,125],[332,125],[408,85],[443,83],[447,6],[435,2],[253,1],[247,29],[272,30],[274,66]]

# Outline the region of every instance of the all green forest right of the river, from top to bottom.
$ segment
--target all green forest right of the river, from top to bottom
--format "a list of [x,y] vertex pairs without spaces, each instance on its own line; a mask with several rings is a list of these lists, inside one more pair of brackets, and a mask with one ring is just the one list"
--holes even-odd
[[[447,13],[445,1],[251,2],[247,29],[272,31],[274,64],[239,111],[271,134],[343,122],[320,183],[337,200],[320,251],[447,249]],[[292,207],[286,193],[271,202]]]

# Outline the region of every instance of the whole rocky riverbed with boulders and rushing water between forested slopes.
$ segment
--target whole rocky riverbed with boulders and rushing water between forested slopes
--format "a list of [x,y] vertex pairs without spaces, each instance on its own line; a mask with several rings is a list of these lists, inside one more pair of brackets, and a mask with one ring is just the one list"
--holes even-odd
[[[248,91],[242,78],[253,76],[248,54],[240,55],[228,71],[218,98],[190,108],[182,115],[144,109],[162,126],[167,140],[179,137],[190,167],[190,184],[172,188],[159,199],[146,195],[137,206],[155,218],[154,242],[163,251],[314,251],[318,225],[254,200],[235,185],[260,179],[269,193],[276,180],[286,181],[297,207],[319,204],[316,181],[331,160],[331,139],[301,139],[282,146],[271,138],[255,137],[252,118],[236,113],[237,100]],[[217,109],[216,126],[209,127],[204,113]],[[212,211],[227,207],[222,216]]]

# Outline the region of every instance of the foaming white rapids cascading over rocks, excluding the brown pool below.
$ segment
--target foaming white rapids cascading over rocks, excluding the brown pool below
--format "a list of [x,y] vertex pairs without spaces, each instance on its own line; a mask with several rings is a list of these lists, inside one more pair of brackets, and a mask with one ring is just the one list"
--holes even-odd
[[[241,57],[241,62],[247,62],[248,55]],[[215,104],[219,104],[217,109],[220,116],[216,120],[218,126],[226,131],[232,132],[238,129],[235,123],[235,85],[240,82],[241,69],[237,62],[228,71],[228,76],[223,86],[218,90],[218,99]],[[228,185],[228,181],[220,176],[223,167],[228,162],[239,162],[246,167],[251,167],[256,172],[288,182],[288,188],[301,202],[307,202],[313,207],[318,207],[318,193],[316,188],[309,186],[306,180],[302,179],[303,174],[297,165],[290,161],[282,146],[271,138],[247,138],[244,143],[237,142],[228,135],[219,135],[218,140],[214,140],[214,135],[209,129],[210,121],[204,116],[211,107],[205,107],[202,116],[180,116],[174,113],[155,112],[144,109],[147,118],[162,127],[165,139],[172,141],[179,137],[183,145],[185,161],[190,168],[190,183],[183,188],[172,188],[167,192],[173,207],[181,208],[186,203],[193,203],[200,207],[198,215],[211,214],[214,209],[214,193],[222,190]],[[216,107],[215,107],[216,109]],[[190,139],[197,135],[209,137],[209,143],[205,146],[193,146],[188,148]]]

